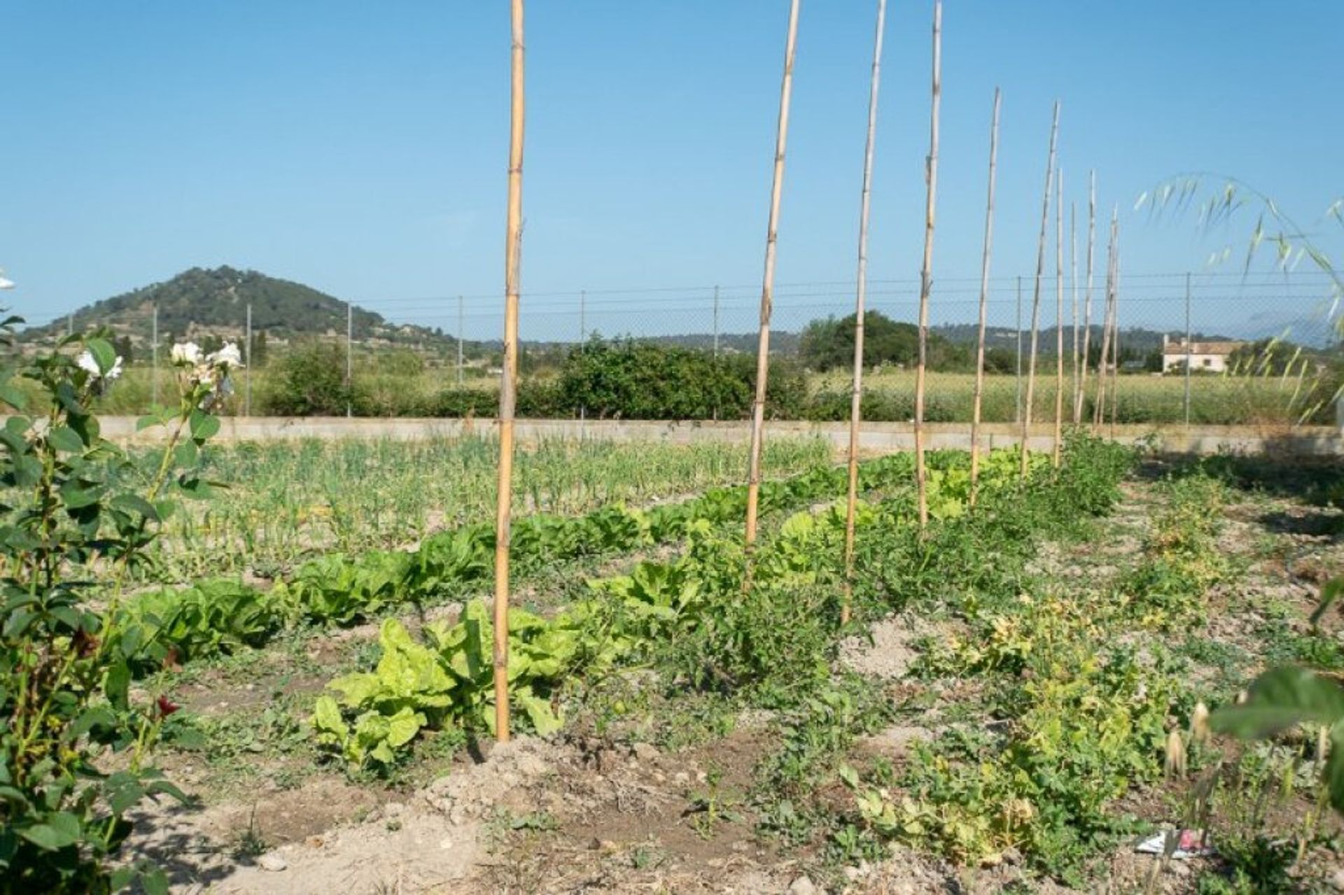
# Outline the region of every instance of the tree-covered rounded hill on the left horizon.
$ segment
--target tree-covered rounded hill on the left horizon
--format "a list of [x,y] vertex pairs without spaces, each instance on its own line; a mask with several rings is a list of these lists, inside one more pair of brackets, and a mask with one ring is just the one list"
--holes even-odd
[[[148,344],[157,306],[159,336],[164,343],[204,333],[231,339],[243,335],[249,305],[253,332],[265,332],[273,341],[345,335],[347,306],[343,300],[298,282],[227,266],[214,270],[192,267],[172,280],[103,298],[74,312],[73,323],[77,329],[109,327],[117,335],[130,337],[133,344]],[[351,323],[359,341],[425,349],[456,347],[453,339],[438,331],[392,324],[382,314],[360,308],[353,308]],[[63,335],[69,325],[62,318],[46,327],[28,328],[22,337],[26,341],[51,339]]]

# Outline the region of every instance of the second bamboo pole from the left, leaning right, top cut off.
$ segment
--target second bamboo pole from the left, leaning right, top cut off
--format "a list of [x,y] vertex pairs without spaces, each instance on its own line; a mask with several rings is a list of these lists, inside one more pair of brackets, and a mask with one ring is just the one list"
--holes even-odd
[[798,44],[798,0],[789,4],[789,36],[784,50],[784,83],[780,87],[780,122],[774,141],[774,179],[770,185],[770,222],[765,237],[765,275],[761,282],[761,332],[757,337],[755,402],[751,407],[751,456],[747,469],[746,546],[755,544],[757,509],[761,503],[761,441],[765,433],[765,391],[770,374],[770,308],[774,304],[774,255],[780,239],[780,195],[784,191],[784,151],[789,141],[789,99],[793,94],[793,59]]

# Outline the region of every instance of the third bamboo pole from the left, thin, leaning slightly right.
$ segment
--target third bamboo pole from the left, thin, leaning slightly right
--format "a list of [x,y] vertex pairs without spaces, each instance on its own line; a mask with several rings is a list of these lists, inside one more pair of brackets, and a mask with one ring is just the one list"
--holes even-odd
[[853,579],[853,517],[859,507],[859,421],[863,417],[863,316],[868,292],[868,211],[872,198],[872,149],[878,134],[878,87],[882,82],[882,34],[887,0],[878,0],[878,27],[872,40],[872,81],[868,85],[868,136],[863,151],[863,188],[859,194],[859,271],[853,300],[853,395],[849,399],[849,495],[844,513],[844,602],[840,624],[849,621]]

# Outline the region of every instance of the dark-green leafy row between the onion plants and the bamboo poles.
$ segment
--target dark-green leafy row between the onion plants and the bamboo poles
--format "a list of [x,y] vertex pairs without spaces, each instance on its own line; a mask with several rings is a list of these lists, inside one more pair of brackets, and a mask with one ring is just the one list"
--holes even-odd
[[[934,454],[939,468],[958,465],[954,454]],[[894,454],[860,466],[864,491],[906,488],[913,461]],[[965,473],[961,473],[965,478]],[[841,468],[812,472],[761,486],[761,509],[784,511],[844,492]],[[934,492],[937,493],[937,492]],[[939,501],[935,499],[934,511]],[[735,523],[746,508],[746,488],[711,488],[702,496],[649,509],[621,504],[582,516],[534,513],[512,528],[512,562],[520,575],[577,558],[620,555],[685,538],[702,525]],[[469,524],[426,538],[414,551],[332,554],[298,566],[269,590],[238,579],[203,581],[190,587],[146,591],[113,610],[109,630],[136,632],[120,644],[140,672],[242,646],[258,646],[294,625],[347,626],[391,607],[423,605],[488,581],[493,527]]]

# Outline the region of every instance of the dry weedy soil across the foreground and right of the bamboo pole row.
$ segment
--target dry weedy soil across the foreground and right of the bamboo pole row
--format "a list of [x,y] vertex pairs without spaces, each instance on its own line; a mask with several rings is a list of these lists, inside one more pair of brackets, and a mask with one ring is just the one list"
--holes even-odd
[[[176,882],[235,892],[336,880],[446,892],[1328,886],[1340,828],[1320,801],[1313,738],[1192,743],[1188,728],[1198,701],[1232,701],[1267,663],[1344,667],[1336,621],[1306,624],[1317,582],[1344,566],[1337,513],[1204,466],[1148,461],[1118,488],[1091,481],[1070,509],[1093,488],[1117,503],[1086,520],[1063,493],[1042,497],[1059,488],[1042,482],[1012,517],[992,521],[984,507],[905,544],[929,562],[992,564],[925,574],[918,552],[862,528],[862,621],[848,638],[782,638],[796,675],[728,673],[712,641],[657,648],[601,675],[575,669],[551,692],[562,727],[503,747],[462,735],[464,722],[422,730],[386,767],[324,759],[308,718],[339,668],[378,661],[367,626],[333,646],[286,636],[188,664],[172,697],[216,747],[237,742],[200,775],[206,808],[169,812],[167,829],[196,844]],[[784,551],[798,520],[777,515],[766,552]],[[780,574],[814,610],[824,601],[810,591],[827,589],[797,566]],[[628,572],[617,578],[637,579],[640,562]],[[574,605],[539,606],[540,617],[554,625]],[[731,641],[739,654],[751,625],[800,624],[793,609],[753,611],[731,620],[749,629]],[[724,668],[698,681],[692,658]],[[1184,769],[1164,767],[1172,731]],[[211,762],[173,744],[164,757],[177,771]],[[1134,853],[1142,835],[1196,817],[1216,855]]]

